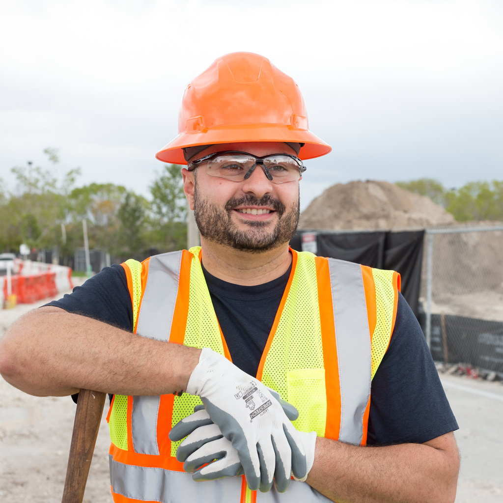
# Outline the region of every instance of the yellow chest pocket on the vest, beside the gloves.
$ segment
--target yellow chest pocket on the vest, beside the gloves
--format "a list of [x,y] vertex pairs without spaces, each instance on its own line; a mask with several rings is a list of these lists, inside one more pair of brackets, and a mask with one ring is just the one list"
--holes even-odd
[[325,369],[297,369],[286,373],[288,398],[297,407],[299,418],[293,422],[301,432],[325,436]]

